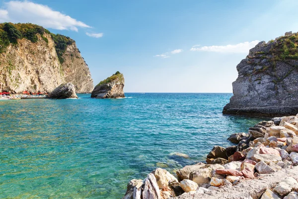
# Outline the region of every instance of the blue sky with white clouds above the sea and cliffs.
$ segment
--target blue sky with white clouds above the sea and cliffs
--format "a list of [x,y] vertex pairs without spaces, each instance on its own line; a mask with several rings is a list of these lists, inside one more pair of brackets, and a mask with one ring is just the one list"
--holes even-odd
[[70,36],[94,85],[120,71],[127,93],[232,93],[250,48],[298,31],[298,0],[0,2],[0,22]]

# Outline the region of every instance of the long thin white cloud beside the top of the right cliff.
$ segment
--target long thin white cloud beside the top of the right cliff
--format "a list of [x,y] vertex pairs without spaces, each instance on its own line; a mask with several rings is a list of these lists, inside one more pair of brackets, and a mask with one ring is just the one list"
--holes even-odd
[[235,45],[226,46],[203,46],[200,48],[192,47],[191,51],[208,51],[208,52],[223,52],[223,53],[248,53],[249,49],[255,47],[260,41],[243,42]]

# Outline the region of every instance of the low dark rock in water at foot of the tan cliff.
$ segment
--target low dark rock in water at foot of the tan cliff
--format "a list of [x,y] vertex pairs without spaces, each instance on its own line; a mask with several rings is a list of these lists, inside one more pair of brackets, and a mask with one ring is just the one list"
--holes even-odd
[[77,98],[77,96],[75,94],[74,85],[71,83],[67,83],[67,84],[62,84],[56,89],[54,89],[54,91],[52,91],[48,95],[48,98],[61,100],[61,99],[68,99],[68,98]]

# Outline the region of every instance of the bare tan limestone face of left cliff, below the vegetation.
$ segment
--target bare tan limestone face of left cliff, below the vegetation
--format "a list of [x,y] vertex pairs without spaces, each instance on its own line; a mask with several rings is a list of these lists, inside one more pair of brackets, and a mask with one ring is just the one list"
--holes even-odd
[[62,54],[62,63],[51,34],[37,33],[36,37],[36,42],[17,39],[0,53],[0,91],[50,93],[61,84],[72,83],[77,93],[91,93],[93,80],[75,42]]

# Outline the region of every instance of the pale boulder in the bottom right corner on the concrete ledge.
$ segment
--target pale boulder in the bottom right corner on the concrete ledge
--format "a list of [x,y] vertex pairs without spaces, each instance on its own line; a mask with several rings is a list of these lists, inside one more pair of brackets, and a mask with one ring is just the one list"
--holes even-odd
[[286,177],[273,189],[273,192],[279,194],[280,196],[286,196],[297,188],[298,182],[292,177]]

